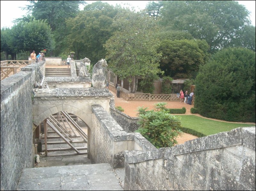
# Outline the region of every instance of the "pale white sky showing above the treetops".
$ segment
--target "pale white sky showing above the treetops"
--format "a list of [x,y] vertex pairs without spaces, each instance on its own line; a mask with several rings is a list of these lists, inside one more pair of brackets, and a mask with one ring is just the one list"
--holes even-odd
[[[88,4],[91,4],[95,1],[86,1]],[[108,2],[108,4],[116,5],[121,4],[121,6],[126,6],[125,4],[130,4],[133,6],[136,10],[141,10],[146,7],[146,4],[148,1],[102,1],[102,2]],[[255,26],[255,0],[253,1],[237,1],[239,4],[243,4],[248,11],[251,11],[250,19],[252,21],[252,25]],[[29,4],[27,1],[5,1],[1,0],[1,28],[3,27],[9,27],[11,28],[13,26],[12,21],[16,18],[21,18],[23,15],[26,15],[27,11],[22,11],[19,7],[25,7],[27,4]],[[84,5],[80,6],[80,9],[83,10]]]

